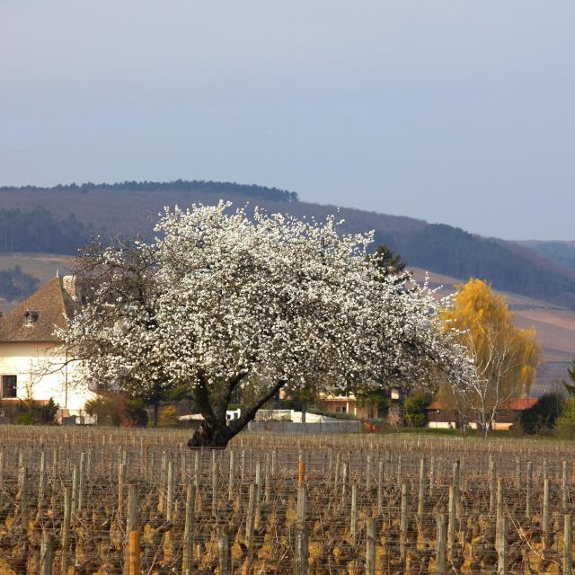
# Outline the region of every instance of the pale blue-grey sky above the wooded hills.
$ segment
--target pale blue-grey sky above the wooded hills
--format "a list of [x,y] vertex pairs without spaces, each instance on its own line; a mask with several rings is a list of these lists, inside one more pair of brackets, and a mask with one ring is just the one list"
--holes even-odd
[[574,27],[572,0],[0,0],[0,184],[254,182],[572,240]]

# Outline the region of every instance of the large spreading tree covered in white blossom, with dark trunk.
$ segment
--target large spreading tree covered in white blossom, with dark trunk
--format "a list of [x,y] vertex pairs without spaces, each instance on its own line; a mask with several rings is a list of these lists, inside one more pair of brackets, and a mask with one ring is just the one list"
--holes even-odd
[[[283,387],[365,389],[437,371],[466,385],[469,361],[433,293],[383,278],[370,234],[225,202],[166,209],[155,231],[80,258],[92,288],[63,335],[97,385],[189,385],[203,416],[190,447],[226,446]],[[260,395],[226,421],[254,378]]]

